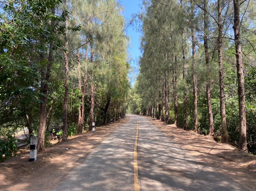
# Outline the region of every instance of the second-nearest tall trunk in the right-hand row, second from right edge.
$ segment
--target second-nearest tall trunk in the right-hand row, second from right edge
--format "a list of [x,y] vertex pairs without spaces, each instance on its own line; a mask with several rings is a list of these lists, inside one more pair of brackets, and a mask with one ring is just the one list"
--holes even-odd
[[228,129],[226,123],[226,109],[225,109],[225,92],[224,92],[224,69],[223,69],[223,38],[222,38],[222,2],[218,0],[218,60],[219,60],[219,94],[220,94],[220,116],[221,116],[221,129],[222,129],[222,143],[228,143]]

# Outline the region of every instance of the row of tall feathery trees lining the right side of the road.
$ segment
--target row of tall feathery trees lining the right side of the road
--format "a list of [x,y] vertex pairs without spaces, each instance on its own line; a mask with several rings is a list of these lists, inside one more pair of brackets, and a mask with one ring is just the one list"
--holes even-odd
[[256,154],[255,6],[144,0],[129,110]]

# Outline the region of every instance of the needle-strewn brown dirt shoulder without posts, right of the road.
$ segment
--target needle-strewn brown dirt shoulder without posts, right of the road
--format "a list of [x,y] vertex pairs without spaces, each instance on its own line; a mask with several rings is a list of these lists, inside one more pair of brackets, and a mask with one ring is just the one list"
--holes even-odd
[[232,145],[217,143],[210,136],[185,131],[151,117],[145,118],[195,155],[198,161],[215,168],[249,190],[256,190],[256,156],[240,152]]

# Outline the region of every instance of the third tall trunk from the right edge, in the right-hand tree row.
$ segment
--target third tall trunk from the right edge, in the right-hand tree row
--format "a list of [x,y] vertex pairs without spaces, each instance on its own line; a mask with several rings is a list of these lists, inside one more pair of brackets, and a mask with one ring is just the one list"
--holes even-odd
[[213,112],[212,112],[212,101],[211,101],[211,82],[210,82],[210,55],[208,53],[208,15],[207,15],[207,0],[204,0],[204,53],[205,53],[205,63],[207,67],[207,82],[206,82],[206,99],[207,99],[207,111],[208,111],[208,126],[209,135],[214,137],[214,127],[213,127]]

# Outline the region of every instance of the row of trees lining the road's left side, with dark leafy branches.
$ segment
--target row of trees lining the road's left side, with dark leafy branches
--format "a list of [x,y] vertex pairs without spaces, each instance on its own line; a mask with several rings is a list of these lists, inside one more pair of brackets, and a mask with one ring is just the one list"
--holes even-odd
[[92,122],[122,118],[130,86],[118,1],[14,0],[0,8],[1,143],[27,128],[42,151],[54,131],[66,141]]

